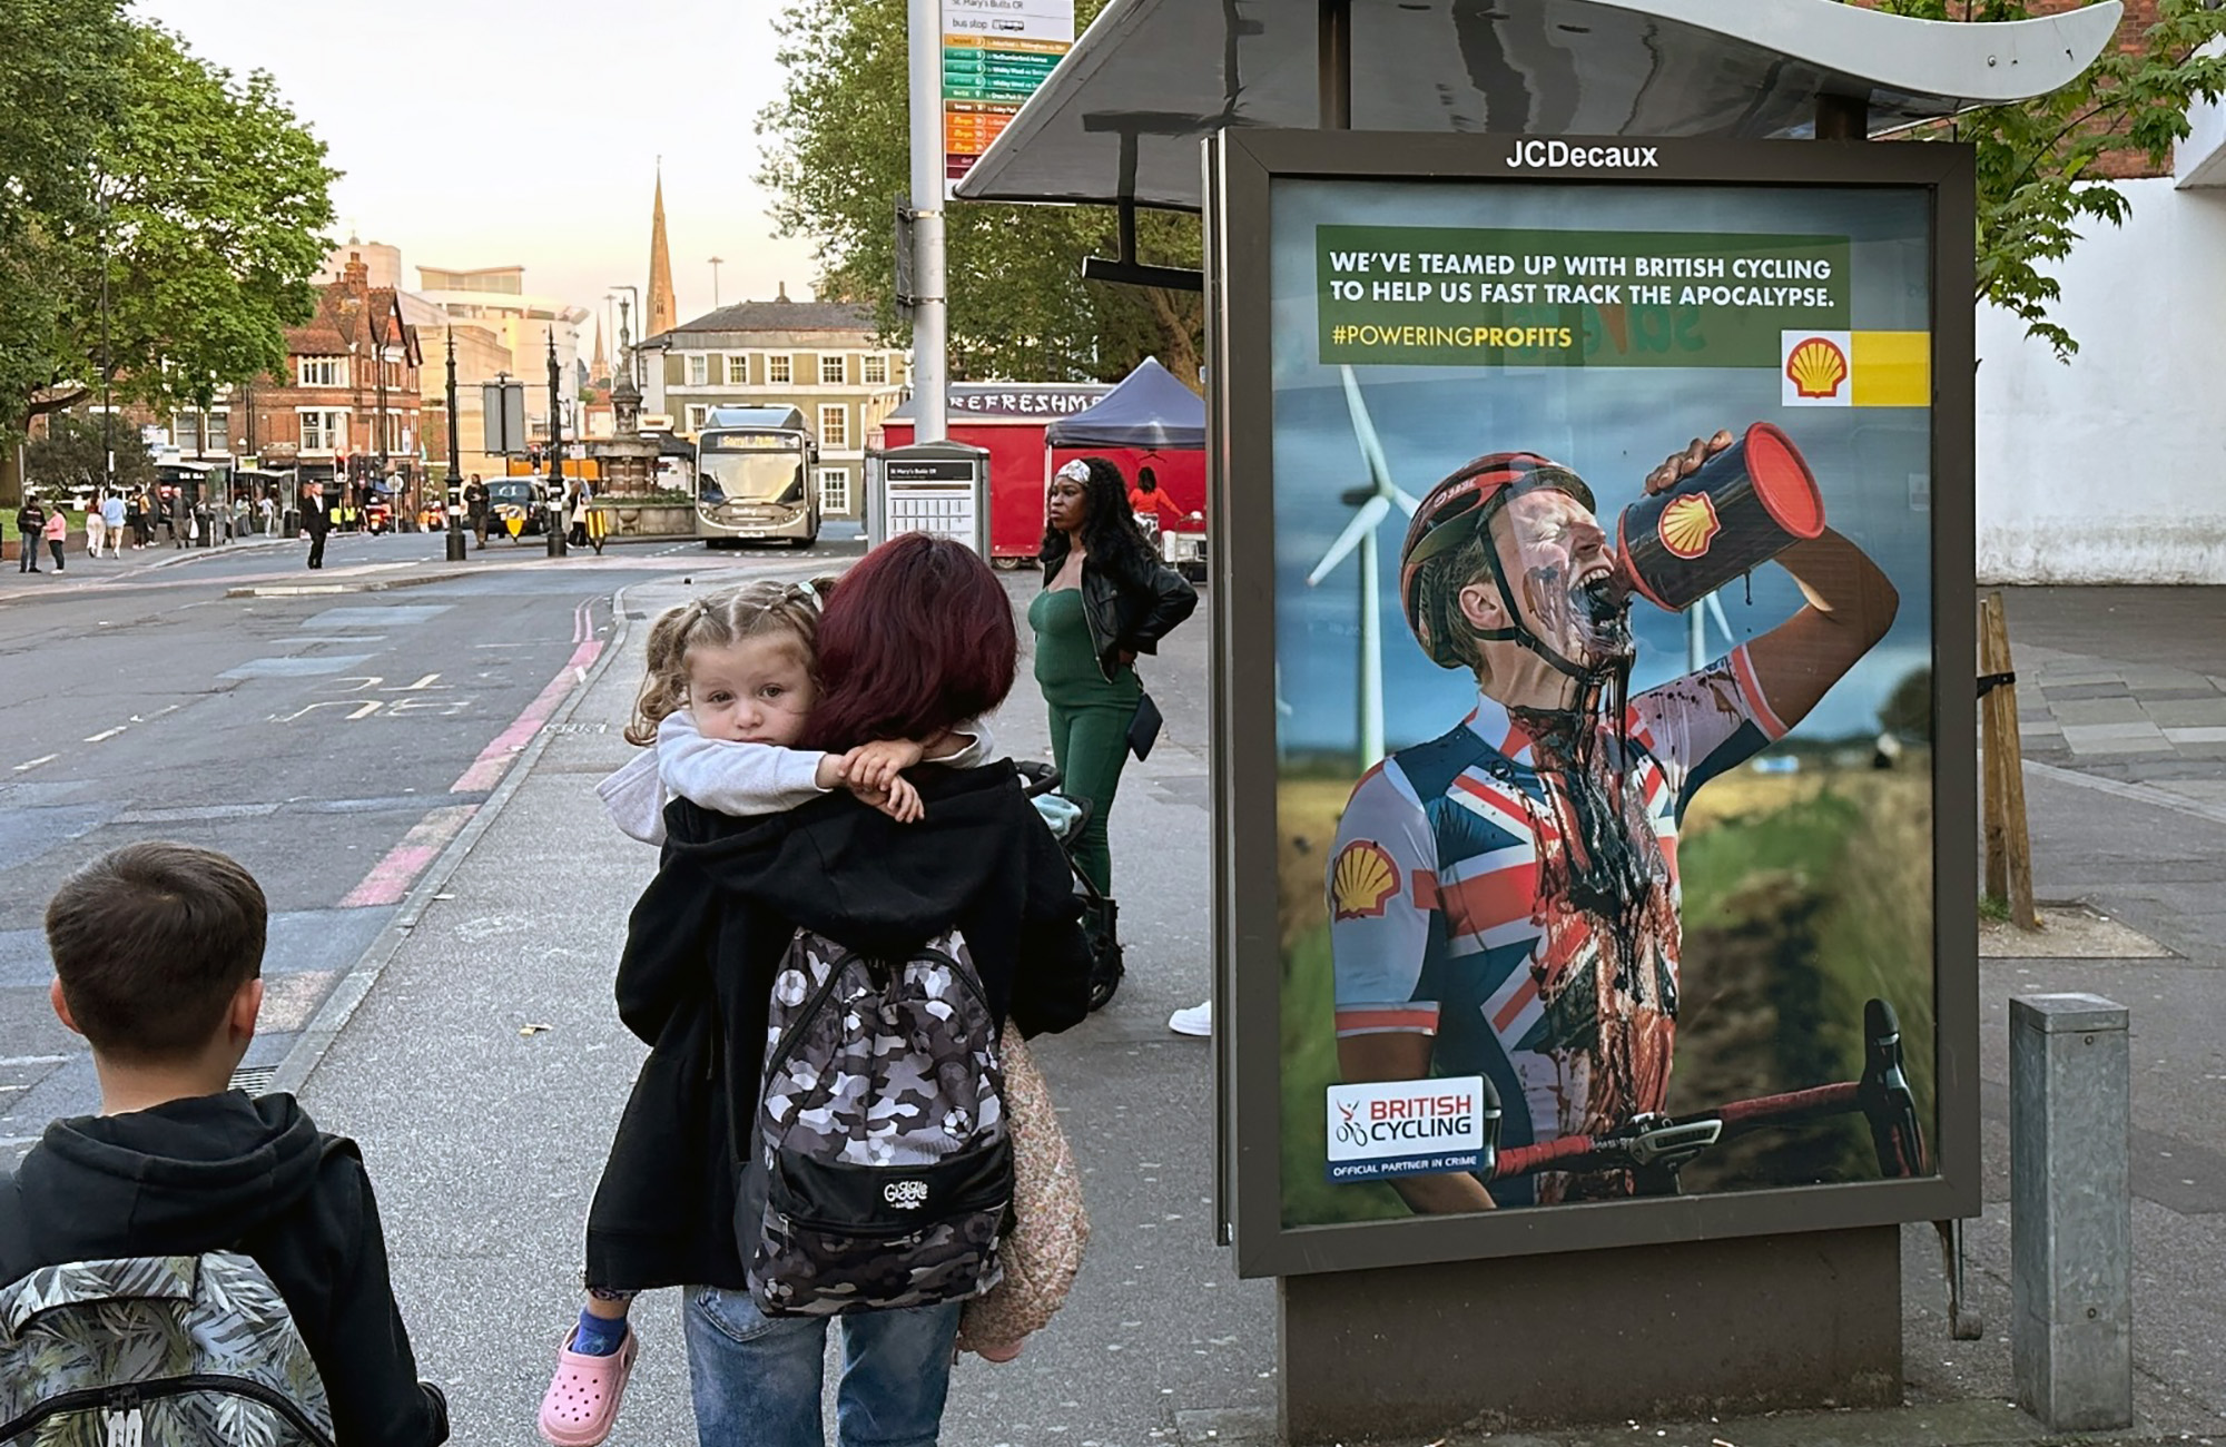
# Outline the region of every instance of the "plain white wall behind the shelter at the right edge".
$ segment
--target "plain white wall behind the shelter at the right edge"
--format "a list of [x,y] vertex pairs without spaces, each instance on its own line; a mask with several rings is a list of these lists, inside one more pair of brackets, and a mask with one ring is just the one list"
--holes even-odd
[[2072,361],[1979,309],[1979,579],[2226,583],[2226,191],[2124,183],[2055,267]]

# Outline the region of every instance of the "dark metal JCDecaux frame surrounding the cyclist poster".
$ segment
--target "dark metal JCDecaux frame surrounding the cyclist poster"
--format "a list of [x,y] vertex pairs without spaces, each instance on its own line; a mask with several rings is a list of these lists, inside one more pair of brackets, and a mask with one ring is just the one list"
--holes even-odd
[[[1220,541],[1215,688],[1215,1093],[1218,1220],[1244,1278],[1841,1231],[1972,1218],[1979,1182],[1977,692],[1972,657],[1974,285],[1972,149],[1959,142],[1654,140],[1560,136],[1572,149],[1647,151],[1654,165],[1525,165],[1536,136],[1244,131],[1204,140],[1209,492]],[[1897,187],[1930,196],[1932,223],[1932,982],[1937,1173],[1563,1204],[1474,1215],[1282,1224],[1282,959],[1275,893],[1275,470],[1271,191],[1278,180],[1474,180],[1574,187]]]

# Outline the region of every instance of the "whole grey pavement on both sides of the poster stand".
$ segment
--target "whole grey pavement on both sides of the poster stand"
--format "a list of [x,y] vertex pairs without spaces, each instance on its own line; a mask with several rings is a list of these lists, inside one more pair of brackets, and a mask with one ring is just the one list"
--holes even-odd
[[[799,572],[804,572],[799,568]],[[1033,577],[1011,583],[1024,606]],[[681,581],[621,599],[626,637],[552,717],[472,828],[423,875],[396,926],[312,1024],[329,1046],[280,1071],[327,1129],[363,1142],[378,1184],[394,1280],[427,1376],[450,1387],[459,1443],[530,1443],[532,1418],[574,1313],[585,1202],[643,1055],[617,1024],[610,982],[626,915],[654,855],[610,828],[594,781],[639,683],[646,626],[683,601]],[[2133,1008],[2137,1431],[2088,1443],[2213,1440],[2226,1434],[2226,748],[2184,730],[2219,695],[2226,641],[2202,590],[2039,590],[2010,601],[2021,677],[2035,882],[2157,942],[2153,957],[2046,957],[2052,939],[1981,962],[1986,1215],[1970,1229],[1970,1298],[1986,1340],[1952,1342],[1928,1227],[1903,1236],[1910,1407],[1723,1423],[1627,1423],[1596,1431],[1491,1436],[1447,1423],[1440,1443],[1690,1447],[1834,1443],[2039,1443],[2006,1407],[2008,1365],[2008,995],[2090,988]],[[1238,1282],[1213,1247],[1211,1069],[1204,1042],[1169,1035],[1166,1013],[1209,982],[1209,779],[1202,623],[1169,639],[1146,681],[1169,730],[1131,766],[1113,813],[1129,982],[1097,1017],[1040,1051],[1084,1167],[1093,1242],[1066,1311],[1008,1367],[968,1358],[946,1416],[948,1447],[1135,1447],[1273,1440],[1273,1287]],[[1026,637],[1026,630],[1022,630]],[[2115,686],[2119,692],[2084,690]],[[2226,708],[2226,695],[2219,695]],[[2101,719],[2146,732],[2072,732]],[[2066,715],[2066,710],[2070,710]],[[2208,715],[2202,715],[2208,717]],[[1044,755],[1044,708],[1026,668],[995,719],[1015,757]],[[2219,728],[2226,728],[2222,724]],[[2170,730],[2181,730],[2175,737]],[[2059,761],[2055,761],[2059,759]],[[2137,946],[2139,948],[2139,946]],[[376,988],[372,988],[376,986]],[[352,1011],[352,1013],[349,1013]],[[641,1367],[612,1436],[692,1440],[677,1293],[637,1309]],[[1420,1447],[1420,1445],[1416,1445]]]

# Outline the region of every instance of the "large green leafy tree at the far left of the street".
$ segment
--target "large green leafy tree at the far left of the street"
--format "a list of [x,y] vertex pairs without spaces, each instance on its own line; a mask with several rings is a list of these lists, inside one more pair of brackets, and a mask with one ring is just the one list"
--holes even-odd
[[71,160],[78,191],[0,236],[0,439],[105,390],[116,405],[207,407],[283,370],[285,329],[316,301],[336,171],[276,82],[127,22],[105,85],[85,98],[100,125]]

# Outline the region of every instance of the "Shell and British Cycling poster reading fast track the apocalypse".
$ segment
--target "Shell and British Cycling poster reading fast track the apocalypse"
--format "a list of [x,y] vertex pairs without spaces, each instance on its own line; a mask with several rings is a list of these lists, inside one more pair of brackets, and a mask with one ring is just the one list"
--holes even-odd
[[1282,1227],[1930,1175],[1930,194],[1269,200]]

